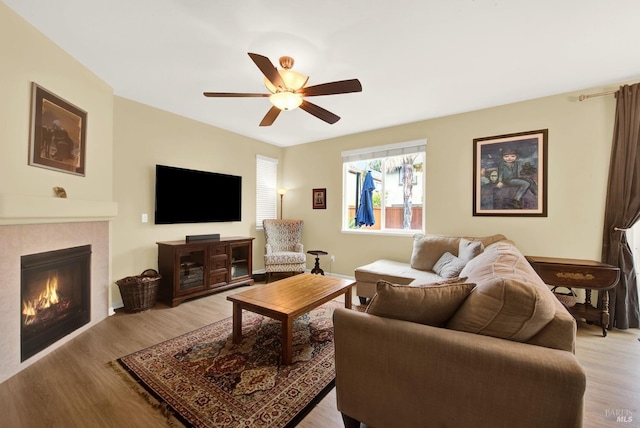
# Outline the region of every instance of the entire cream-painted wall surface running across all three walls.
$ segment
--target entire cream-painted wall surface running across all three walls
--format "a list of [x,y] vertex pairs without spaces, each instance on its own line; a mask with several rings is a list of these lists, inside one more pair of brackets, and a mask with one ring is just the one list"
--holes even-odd
[[[562,94],[283,149],[114,98],[108,85],[2,3],[0,36],[0,89],[5,105],[11,106],[3,111],[0,127],[0,197],[11,193],[51,198],[51,188],[63,186],[70,200],[117,202],[118,216],[111,222],[112,279],[156,267],[156,241],[199,233],[255,236],[254,269],[262,267],[264,240],[254,224],[256,153],[280,159],[280,185],[289,189],[284,216],[305,220],[306,249],[324,249],[336,256],[332,264],[323,258],[325,270],[352,275],[355,267],[380,257],[406,260],[411,253],[409,236],[341,232],[340,153],[421,138],[427,139],[427,232],[503,233],[527,254],[600,258],[612,96],[578,102],[577,92]],[[88,112],[86,177],[27,165],[32,81]],[[549,129],[548,217],[473,217],[473,138],[542,128]],[[153,225],[156,163],[242,175],[242,222]],[[327,188],[326,210],[311,208],[314,187]],[[141,223],[142,213],[149,214],[149,223]],[[110,304],[117,306],[114,284],[111,291]]]

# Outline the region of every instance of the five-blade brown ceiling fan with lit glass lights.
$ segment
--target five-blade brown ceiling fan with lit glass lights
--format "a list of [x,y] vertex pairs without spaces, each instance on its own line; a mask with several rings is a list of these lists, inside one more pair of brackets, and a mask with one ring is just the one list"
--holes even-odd
[[314,97],[319,95],[347,94],[350,92],[361,92],[362,85],[358,79],[339,80],[336,82],[322,83],[320,85],[305,86],[309,81],[308,76],[304,76],[297,71],[291,70],[293,58],[283,56],[280,58],[281,70],[274,67],[273,63],[266,56],[249,53],[253,62],[264,74],[264,84],[269,90],[268,94],[247,94],[235,92],[205,92],[205,97],[269,97],[273,106],[260,122],[260,126],[270,126],[278,117],[282,110],[293,110],[300,107],[327,123],[334,124],[340,120],[340,116],[323,109],[320,106],[310,103],[304,97]]

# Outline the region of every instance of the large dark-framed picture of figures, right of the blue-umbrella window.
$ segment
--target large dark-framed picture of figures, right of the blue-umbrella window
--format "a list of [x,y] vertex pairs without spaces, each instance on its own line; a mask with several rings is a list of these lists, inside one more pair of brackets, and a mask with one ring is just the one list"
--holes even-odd
[[473,215],[547,216],[548,130],[473,140]]

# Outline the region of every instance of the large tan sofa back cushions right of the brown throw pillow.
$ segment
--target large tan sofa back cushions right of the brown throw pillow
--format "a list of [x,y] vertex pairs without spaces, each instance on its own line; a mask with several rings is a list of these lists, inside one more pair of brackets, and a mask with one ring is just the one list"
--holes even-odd
[[486,248],[460,275],[477,285],[448,328],[527,342],[555,316],[555,297],[510,241]]

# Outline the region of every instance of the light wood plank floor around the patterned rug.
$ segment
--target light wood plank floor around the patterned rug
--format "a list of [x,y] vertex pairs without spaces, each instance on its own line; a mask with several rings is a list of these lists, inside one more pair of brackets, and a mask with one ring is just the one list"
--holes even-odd
[[[231,302],[226,296],[239,290],[175,308],[158,304],[143,313],[119,312],[102,321],[0,384],[0,427],[166,426],[162,415],[109,363],[231,316]],[[579,325],[576,355],[588,382],[584,427],[640,427],[640,330],[614,330],[606,338],[600,333],[595,326]],[[342,427],[335,400],[334,390],[299,427]],[[616,412],[630,414],[633,421],[616,423]]]

